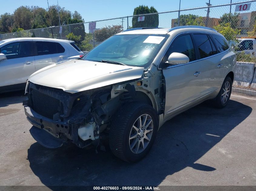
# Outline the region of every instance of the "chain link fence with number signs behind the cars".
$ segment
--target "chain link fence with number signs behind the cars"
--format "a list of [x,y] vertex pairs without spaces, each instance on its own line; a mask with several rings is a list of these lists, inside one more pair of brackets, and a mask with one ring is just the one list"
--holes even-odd
[[91,22],[85,22],[0,34],[0,38],[43,37],[73,40],[82,51],[89,51],[105,39],[129,28],[198,25],[214,28],[228,41],[232,41],[240,37],[256,36],[255,18],[256,0],[241,1],[95,21],[93,33],[89,33]]

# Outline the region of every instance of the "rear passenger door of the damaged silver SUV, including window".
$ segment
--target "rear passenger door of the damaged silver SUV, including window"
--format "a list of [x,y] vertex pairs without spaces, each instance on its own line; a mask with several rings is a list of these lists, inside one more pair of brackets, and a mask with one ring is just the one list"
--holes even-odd
[[199,53],[202,77],[202,94],[206,95],[221,87],[224,75],[224,54],[218,54],[210,34],[193,34]]

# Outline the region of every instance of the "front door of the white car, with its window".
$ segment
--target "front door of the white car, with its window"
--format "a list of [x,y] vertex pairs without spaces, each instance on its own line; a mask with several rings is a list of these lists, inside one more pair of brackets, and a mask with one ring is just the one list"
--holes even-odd
[[0,86],[22,85],[35,72],[32,40],[4,44],[0,52],[7,58],[0,61]]

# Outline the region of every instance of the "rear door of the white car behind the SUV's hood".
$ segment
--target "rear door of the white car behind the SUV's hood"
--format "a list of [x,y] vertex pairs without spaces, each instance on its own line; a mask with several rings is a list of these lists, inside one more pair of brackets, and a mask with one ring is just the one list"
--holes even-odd
[[36,40],[34,47],[36,71],[48,65],[69,60],[68,48],[58,42]]

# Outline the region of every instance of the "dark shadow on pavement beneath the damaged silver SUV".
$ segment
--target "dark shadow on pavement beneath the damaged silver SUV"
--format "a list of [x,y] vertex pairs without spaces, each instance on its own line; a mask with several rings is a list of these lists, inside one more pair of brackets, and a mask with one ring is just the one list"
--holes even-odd
[[[126,163],[110,151],[95,153],[73,144],[47,149],[34,143],[28,149],[30,167],[43,184],[63,186],[159,185],[166,176],[186,167],[214,171],[215,166],[196,161],[221,141],[251,113],[248,107],[230,100],[224,109],[205,103],[165,123],[149,154],[137,163]],[[52,187],[54,189],[54,187]]]

